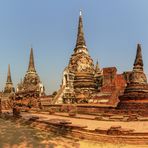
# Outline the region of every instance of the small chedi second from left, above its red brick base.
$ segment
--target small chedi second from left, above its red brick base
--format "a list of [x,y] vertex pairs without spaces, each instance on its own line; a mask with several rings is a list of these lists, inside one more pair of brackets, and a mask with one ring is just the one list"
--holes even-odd
[[33,48],[30,52],[30,60],[24,80],[17,85],[16,98],[37,98],[44,95],[44,86],[35,70]]

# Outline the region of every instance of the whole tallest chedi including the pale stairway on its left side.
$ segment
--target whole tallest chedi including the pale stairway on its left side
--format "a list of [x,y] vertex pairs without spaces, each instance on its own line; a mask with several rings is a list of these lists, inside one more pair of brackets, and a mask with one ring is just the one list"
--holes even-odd
[[92,93],[98,90],[96,74],[98,71],[86,46],[80,11],[74,53],[63,72],[62,85],[54,103],[88,103]]

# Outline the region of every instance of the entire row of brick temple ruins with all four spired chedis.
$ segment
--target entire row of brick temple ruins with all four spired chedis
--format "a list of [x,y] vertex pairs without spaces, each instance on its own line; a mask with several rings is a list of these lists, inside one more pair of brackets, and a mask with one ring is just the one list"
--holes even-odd
[[143,71],[141,46],[137,45],[132,71],[118,74],[116,67],[101,69],[98,61],[95,65],[89,55],[80,13],[76,45],[69,64],[64,69],[62,85],[56,95],[52,97],[45,95],[44,86],[35,69],[31,48],[28,70],[23,81],[17,85],[16,92],[11,80],[10,65],[8,66],[7,81],[1,98],[4,109],[9,109],[12,106],[12,99],[15,98],[20,105],[36,108],[40,108],[40,104],[77,104],[82,112],[83,109],[88,111],[90,108],[98,112],[108,110],[110,107],[118,111],[126,109],[132,111],[137,108],[147,110],[148,84]]

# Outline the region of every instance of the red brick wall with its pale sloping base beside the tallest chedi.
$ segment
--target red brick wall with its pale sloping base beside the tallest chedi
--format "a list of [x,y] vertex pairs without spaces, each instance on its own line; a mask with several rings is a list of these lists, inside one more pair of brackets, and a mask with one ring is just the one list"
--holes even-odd
[[116,67],[103,68],[102,72],[102,86],[100,91],[93,95],[92,103],[116,105],[118,96],[123,94],[126,86],[124,75],[117,74]]

